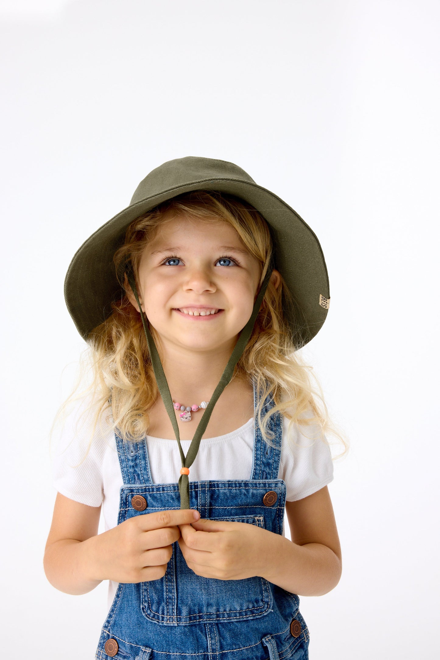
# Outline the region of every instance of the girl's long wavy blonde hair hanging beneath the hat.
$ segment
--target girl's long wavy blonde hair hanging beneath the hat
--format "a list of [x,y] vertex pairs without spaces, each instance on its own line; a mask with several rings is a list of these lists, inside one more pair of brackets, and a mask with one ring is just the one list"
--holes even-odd
[[[131,262],[137,282],[139,263],[146,244],[156,236],[164,222],[176,216],[230,223],[249,253],[260,264],[261,286],[272,263],[270,230],[256,209],[234,195],[218,191],[191,191],[173,197],[133,220],[127,227],[124,244],[113,257],[117,277],[125,294],[111,304],[111,315],[88,336],[88,347],[80,358],[77,382],[59,409],[52,430],[59,414],[65,412],[69,403],[89,394],[95,411],[92,436],[98,420],[102,420],[102,413],[107,413],[106,423],[113,430],[117,429],[123,440],[139,442],[148,434],[148,411],[160,397],[160,392],[141,316],[127,296],[131,289],[125,275],[125,265]],[[270,281],[251,337],[237,363],[237,373],[249,382],[255,381],[257,391],[263,391],[255,414],[267,444],[270,445],[273,440],[267,428],[268,420],[279,411],[289,420],[289,437],[292,427],[298,424],[303,428],[317,429],[317,435],[323,442],[328,442],[325,436],[329,434],[338,438],[344,446],[344,451],[336,456],[338,458],[348,451],[348,441],[330,421],[321,385],[313,374],[313,368],[305,364],[298,352],[301,348],[299,329],[292,329],[284,314],[284,310],[292,306],[295,306],[295,300],[283,278],[280,277],[277,287]],[[151,325],[150,332],[162,360],[160,337]],[[92,377],[91,382],[78,392],[86,371]],[[315,381],[315,385],[312,381]],[[261,408],[268,395],[272,396],[274,407],[262,416]],[[316,439],[311,438],[313,441]]]

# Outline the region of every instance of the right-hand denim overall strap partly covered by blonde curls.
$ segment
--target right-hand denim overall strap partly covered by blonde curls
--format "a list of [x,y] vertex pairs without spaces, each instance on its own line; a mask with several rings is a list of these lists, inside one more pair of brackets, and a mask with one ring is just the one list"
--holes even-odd
[[[257,393],[254,381],[253,387],[254,412],[257,411],[257,404],[263,397],[263,391]],[[274,407],[274,401],[270,395],[263,403],[261,417]],[[278,479],[278,470],[280,468],[281,444],[282,444],[282,414],[277,411],[272,414],[268,420],[268,431],[272,432],[273,438],[270,442],[275,445],[271,447],[265,442],[263,434],[257,423],[257,415],[254,418],[255,436],[253,442],[253,464],[251,480],[258,479]]]

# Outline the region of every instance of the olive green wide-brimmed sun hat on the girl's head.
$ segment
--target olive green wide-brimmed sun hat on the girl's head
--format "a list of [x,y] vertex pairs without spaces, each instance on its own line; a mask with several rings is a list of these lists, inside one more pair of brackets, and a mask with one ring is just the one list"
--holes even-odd
[[284,309],[298,345],[321,329],[329,309],[329,275],[321,245],[306,222],[270,190],[225,160],[187,156],[168,160],[139,183],[129,206],[94,232],[77,250],[65,277],[69,314],[84,339],[111,314],[121,298],[113,255],[127,226],[162,202],[195,190],[230,193],[249,203],[268,223],[274,245],[273,267],[286,282],[293,306]]

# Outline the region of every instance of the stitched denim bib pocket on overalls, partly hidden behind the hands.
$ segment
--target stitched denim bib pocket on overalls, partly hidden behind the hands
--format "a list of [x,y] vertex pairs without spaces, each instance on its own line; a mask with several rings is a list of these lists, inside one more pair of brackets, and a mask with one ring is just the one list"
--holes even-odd
[[[265,527],[263,515],[215,520]],[[189,568],[177,541],[163,578],[141,583],[141,610],[147,619],[169,626],[201,621],[243,621],[272,609],[272,590],[264,578],[222,580],[198,576]]]

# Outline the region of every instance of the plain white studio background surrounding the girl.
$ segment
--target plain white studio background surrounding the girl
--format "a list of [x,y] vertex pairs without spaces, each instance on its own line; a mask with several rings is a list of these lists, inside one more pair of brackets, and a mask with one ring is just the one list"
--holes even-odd
[[351,449],[329,486],[342,578],[301,597],[311,660],[436,655],[439,18],[426,0],[0,3],[3,657],[94,657],[107,584],[67,595],[42,564],[47,438],[84,348],[63,280],[182,156],[241,166],[327,261],[304,352]]

